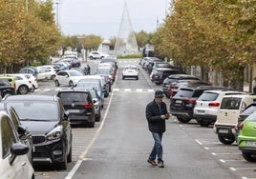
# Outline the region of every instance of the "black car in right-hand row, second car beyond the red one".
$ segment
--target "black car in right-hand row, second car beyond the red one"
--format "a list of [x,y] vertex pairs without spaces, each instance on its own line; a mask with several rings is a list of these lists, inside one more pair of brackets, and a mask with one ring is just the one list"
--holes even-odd
[[152,70],[150,74],[150,80],[157,85],[163,83],[164,79],[172,74],[185,74],[182,70],[169,69],[169,68],[157,68]]

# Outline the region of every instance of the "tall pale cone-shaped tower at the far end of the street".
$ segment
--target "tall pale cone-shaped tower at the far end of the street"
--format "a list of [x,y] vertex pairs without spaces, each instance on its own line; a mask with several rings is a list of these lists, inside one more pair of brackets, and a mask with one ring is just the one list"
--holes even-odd
[[131,23],[129,12],[126,2],[124,3],[124,9],[122,12],[122,19],[119,26],[117,41],[115,44],[115,54],[136,54],[138,53],[138,44],[136,41],[135,31]]

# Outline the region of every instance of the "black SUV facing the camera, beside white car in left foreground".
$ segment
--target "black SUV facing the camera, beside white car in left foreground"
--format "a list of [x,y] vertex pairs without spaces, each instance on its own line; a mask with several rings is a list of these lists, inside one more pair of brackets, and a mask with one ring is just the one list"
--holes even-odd
[[32,133],[33,163],[67,169],[67,162],[72,162],[72,129],[61,100],[51,95],[11,95],[2,103],[13,107]]

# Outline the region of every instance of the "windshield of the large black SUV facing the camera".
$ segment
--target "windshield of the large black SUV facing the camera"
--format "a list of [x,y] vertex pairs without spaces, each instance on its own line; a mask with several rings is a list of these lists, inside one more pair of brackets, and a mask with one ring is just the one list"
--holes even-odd
[[58,109],[56,103],[51,102],[13,102],[8,104],[13,107],[20,120],[56,121],[58,120]]

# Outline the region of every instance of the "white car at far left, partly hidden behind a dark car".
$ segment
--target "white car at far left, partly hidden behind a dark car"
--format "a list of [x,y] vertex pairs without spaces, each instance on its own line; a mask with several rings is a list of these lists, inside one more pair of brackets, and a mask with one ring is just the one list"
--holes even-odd
[[16,91],[18,94],[27,94],[33,90],[32,82],[24,73],[1,74],[2,76],[12,76],[15,78]]

